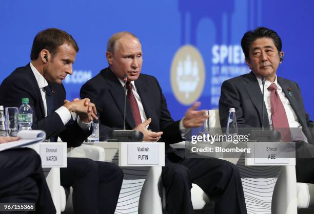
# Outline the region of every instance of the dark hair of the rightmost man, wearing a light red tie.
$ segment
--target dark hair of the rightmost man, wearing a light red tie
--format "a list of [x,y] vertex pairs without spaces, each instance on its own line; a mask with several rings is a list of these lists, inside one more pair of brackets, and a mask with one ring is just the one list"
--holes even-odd
[[278,50],[278,53],[281,51],[282,42],[279,35],[271,29],[268,29],[265,27],[258,27],[254,31],[246,32],[241,39],[241,47],[245,55],[245,58],[247,59],[250,58],[249,51],[250,51],[250,46],[252,42],[258,38],[263,38],[263,37],[271,38],[273,40],[274,45],[276,46]]

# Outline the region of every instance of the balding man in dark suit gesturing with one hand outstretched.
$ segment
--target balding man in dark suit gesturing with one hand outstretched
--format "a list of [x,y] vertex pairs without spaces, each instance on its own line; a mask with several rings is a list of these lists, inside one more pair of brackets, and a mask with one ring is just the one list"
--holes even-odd
[[215,213],[246,213],[236,166],[214,158],[185,158],[184,149],[179,151],[169,145],[182,141],[186,129],[202,125],[207,116],[205,111],[197,111],[200,103],[188,109],[182,120],[173,121],[156,78],[141,74],[141,43],[129,32],[111,36],[106,57],[109,68],[83,85],[81,97],[88,97],[96,103],[101,135],[107,136],[111,129],[123,129],[123,79],[124,75],[127,76],[126,129],[141,131],[145,141],[165,142],[162,183],[166,189],[167,211],[194,213],[190,189],[191,183],[196,183],[215,201]]

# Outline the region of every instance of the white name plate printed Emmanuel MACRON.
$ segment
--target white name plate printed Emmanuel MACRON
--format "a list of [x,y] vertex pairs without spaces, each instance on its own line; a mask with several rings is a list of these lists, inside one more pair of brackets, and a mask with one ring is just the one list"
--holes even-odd
[[43,167],[67,167],[66,148],[60,143],[40,144]]

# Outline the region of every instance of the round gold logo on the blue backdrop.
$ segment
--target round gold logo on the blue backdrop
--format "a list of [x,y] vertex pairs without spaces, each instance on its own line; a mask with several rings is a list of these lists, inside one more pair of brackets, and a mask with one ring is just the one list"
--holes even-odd
[[181,47],[174,55],[170,71],[175,98],[189,105],[200,97],[205,82],[205,66],[200,52],[191,45]]

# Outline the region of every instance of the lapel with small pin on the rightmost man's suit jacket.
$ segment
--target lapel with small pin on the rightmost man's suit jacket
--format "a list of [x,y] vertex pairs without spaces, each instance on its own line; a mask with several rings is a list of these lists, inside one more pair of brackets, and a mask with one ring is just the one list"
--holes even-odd
[[303,127],[306,127],[307,126],[306,121],[304,121],[303,120],[304,117],[301,117],[301,115],[300,115],[300,113],[303,112],[303,108],[302,108],[300,102],[296,99],[296,97],[293,96],[293,93],[297,93],[297,92],[291,92],[291,95],[290,95],[289,91],[288,91],[288,88],[291,88],[290,87],[291,85],[289,85],[290,83],[285,81],[281,77],[278,77],[277,81],[281,85],[282,91],[285,93],[287,99],[289,100],[289,102],[292,106],[292,109],[295,111],[295,113],[299,119],[299,122],[301,123],[301,125]]

